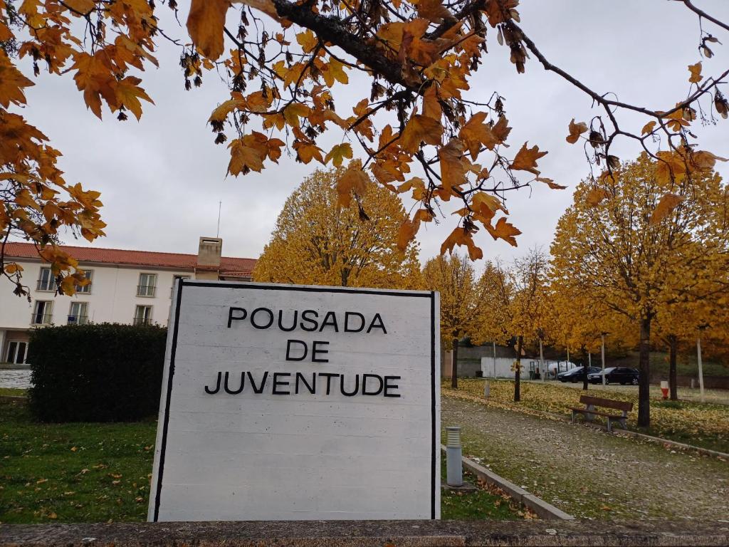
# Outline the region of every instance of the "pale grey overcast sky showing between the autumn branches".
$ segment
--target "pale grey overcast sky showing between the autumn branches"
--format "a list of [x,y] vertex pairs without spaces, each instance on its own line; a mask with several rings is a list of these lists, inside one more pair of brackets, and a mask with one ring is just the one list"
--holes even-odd
[[[187,2],[179,4],[184,22]],[[729,20],[729,0],[695,0],[695,4]],[[612,91],[634,104],[669,109],[687,93],[687,65],[701,59],[698,18],[680,2],[522,0],[519,11],[522,28],[550,61],[599,93]],[[166,7],[158,7],[158,12],[168,34],[186,36],[174,20],[164,20]],[[705,22],[704,28],[725,43],[714,44],[715,57],[703,59],[703,75],[716,75],[729,64],[729,36],[712,23]],[[289,34],[293,36],[292,29]],[[106,238],[95,241],[95,247],[195,253],[198,236],[215,236],[222,201],[223,254],[257,257],[286,197],[316,166],[296,163],[284,152],[278,165],[267,164],[261,174],[226,177],[227,149],[213,143],[214,134],[206,125],[211,110],[229,97],[226,86],[216,74],[206,73],[202,88],[186,92],[179,50],[161,39],[158,46],[160,68],[142,75],[142,85],[156,105],[144,105],[139,123],[132,116],[117,122],[108,111],[103,122],[98,120],[87,111],[71,74],[36,79],[38,85],[26,92],[24,115],[63,152],[59,163],[67,182],[101,191],[108,228]],[[488,48],[483,66],[471,80],[469,97],[488,100],[494,90],[506,97],[512,151],[524,141],[548,150],[539,160],[543,176],[568,186],[549,190],[537,183],[531,191],[510,193],[511,222],[523,232],[517,238],[518,249],[493,241],[483,230],[477,235],[486,258],[510,260],[533,245],[549,247],[574,186],[588,173],[581,144],[565,141],[567,125],[572,117],[588,121],[596,110],[590,109],[587,96],[545,72],[534,59],[527,62],[526,74],[517,74],[507,48],[499,46],[493,32]],[[20,64],[26,71],[31,68],[27,58]],[[356,85],[356,78],[351,83],[335,85],[339,112],[351,112],[349,105],[368,94]],[[369,84],[365,86],[369,90]],[[648,121],[623,119],[625,127],[636,132]],[[696,123],[693,131],[703,150],[729,156],[729,120],[707,127]],[[340,139],[337,131],[322,138],[319,146],[326,151]],[[354,144],[353,149],[356,154]],[[633,143],[612,149],[621,159],[634,158],[638,152]],[[728,164],[720,165],[719,171],[726,178]],[[406,200],[405,205],[409,209],[412,202]],[[451,218],[421,230],[421,260],[437,254],[453,225]],[[66,244],[86,244],[70,234],[61,237]]]

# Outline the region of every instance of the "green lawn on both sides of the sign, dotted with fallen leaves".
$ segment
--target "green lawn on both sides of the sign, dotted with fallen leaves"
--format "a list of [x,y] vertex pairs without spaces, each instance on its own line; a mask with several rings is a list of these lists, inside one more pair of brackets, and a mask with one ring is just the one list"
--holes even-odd
[[[147,519],[156,422],[39,424],[25,403],[0,400],[0,424],[1,524]],[[441,467],[445,479],[445,458]],[[486,486],[443,492],[441,512],[443,519],[532,516]]]

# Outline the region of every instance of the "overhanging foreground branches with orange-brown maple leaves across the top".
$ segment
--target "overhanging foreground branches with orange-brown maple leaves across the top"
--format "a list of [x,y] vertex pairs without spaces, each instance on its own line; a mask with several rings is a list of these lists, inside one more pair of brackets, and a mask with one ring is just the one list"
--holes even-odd
[[[88,109],[118,120],[139,119],[152,98],[142,87],[144,69],[157,65],[156,42],[179,48],[174,62],[185,85],[202,84],[214,70],[230,93],[212,109],[209,124],[217,144],[227,143],[233,176],[262,171],[282,149],[303,163],[346,166],[338,179],[338,202],[362,198],[363,170],[394,193],[417,204],[403,222],[405,249],[423,222],[432,222],[443,202],[453,201],[456,228],[442,252],[467,248],[483,256],[473,234],[483,228],[495,240],[515,245],[520,230],[504,200],[510,190],[532,184],[563,187],[543,176],[547,152],[534,142],[509,140],[504,97],[471,88],[477,71],[488,71],[489,52],[508,55],[515,70],[528,56],[555,78],[590,98],[588,121],[564,120],[566,141],[580,144],[590,163],[615,169],[616,140],[636,139],[660,160],[663,178],[693,178],[720,158],[695,147],[694,125],[728,117],[720,87],[729,74],[703,74],[700,59],[687,68],[677,102],[651,108],[620,101],[610,90],[592,90],[548,59],[521,27],[519,0],[190,0],[185,36],[160,28],[159,9],[177,2],[144,0],[0,0],[0,241],[10,233],[34,241],[54,273],[74,273],[74,262],[46,251],[66,227],[89,240],[103,235],[98,193],[66,184],[55,167],[61,152],[19,112],[24,89],[39,71],[72,77]],[[729,30],[724,21],[684,0],[706,26]],[[187,7],[187,4],[185,5]],[[184,14],[183,14],[184,18]],[[538,22],[534,22],[539,24]],[[526,24],[526,23],[525,23]],[[670,37],[666,38],[670,40]],[[700,27],[699,54],[712,55],[717,37]],[[335,104],[335,89],[354,72],[369,81],[351,111]],[[650,78],[650,70],[646,71]],[[647,88],[650,86],[647,86]],[[650,103],[642,98],[641,104]],[[33,105],[27,105],[32,108]],[[625,121],[638,116],[639,125]],[[638,127],[642,125],[639,131]],[[331,148],[324,133],[340,133]],[[341,136],[341,139],[339,138]],[[334,139],[327,139],[333,141]],[[354,147],[363,163],[353,163]],[[582,193],[599,201],[599,194]],[[671,195],[655,203],[656,217],[677,205]],[[17,265],[0,267],[23,292]],[[71,292],[81,279],[62,282]]]

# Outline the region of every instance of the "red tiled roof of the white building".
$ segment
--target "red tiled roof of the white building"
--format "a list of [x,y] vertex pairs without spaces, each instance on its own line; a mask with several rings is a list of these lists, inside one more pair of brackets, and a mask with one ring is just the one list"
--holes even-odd
[[[209,269],[198,266],[198,255],[183,255],[178,252],[129,251],[126,249],[101,249],[98,247],[61,246],[79,263],[125,264],[139,266],[158,266],[160,268],[178,268],[180,270]],[[8,241],[5,244],[5,256],[13,258],[38,258],[38,252],[31,243]],[[220,272],[235,274],[250,273],[256,265],[254,258],[221,257]],[[216,269],[216,268],[212,268]]]

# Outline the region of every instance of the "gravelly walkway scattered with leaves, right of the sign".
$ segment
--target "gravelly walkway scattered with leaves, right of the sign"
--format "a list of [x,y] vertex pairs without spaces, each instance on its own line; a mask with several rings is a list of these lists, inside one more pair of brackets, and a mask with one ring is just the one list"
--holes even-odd
[[578,518],[727,519],[729,462],[443,397],[464,456]]

